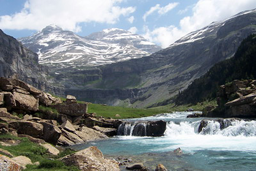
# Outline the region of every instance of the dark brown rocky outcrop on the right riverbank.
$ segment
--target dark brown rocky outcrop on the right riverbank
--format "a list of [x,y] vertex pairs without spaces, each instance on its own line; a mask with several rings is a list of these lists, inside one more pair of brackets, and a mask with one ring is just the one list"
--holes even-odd
[[256,80],[234,80],[217,93],[217,108],[204,110],[207,117],[255,117]]

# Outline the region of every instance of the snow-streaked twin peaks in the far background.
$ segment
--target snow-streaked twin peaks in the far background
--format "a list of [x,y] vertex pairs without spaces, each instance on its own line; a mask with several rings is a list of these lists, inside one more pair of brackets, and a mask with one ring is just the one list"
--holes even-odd
[[55,25],[20,41],[39,55],[39,63],[58,68],[105,65],[148,56],[161,49],[121,29],[106,29],[85,38]]

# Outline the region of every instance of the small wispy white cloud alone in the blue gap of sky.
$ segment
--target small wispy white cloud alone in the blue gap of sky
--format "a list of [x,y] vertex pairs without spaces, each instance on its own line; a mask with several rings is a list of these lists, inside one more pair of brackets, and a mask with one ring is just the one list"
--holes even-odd
[[147,16],[151,15],[155,11],[158,12],[158,14],[163,15],[174,9],[179,3],[174,2],[174,3],[169,3],[166,6],[160,7],[160,4],[156,4],[155,6],[152,6],[150,10],[146,11],[146,13],[143,15],[143,20],[144,22],[146,21]]

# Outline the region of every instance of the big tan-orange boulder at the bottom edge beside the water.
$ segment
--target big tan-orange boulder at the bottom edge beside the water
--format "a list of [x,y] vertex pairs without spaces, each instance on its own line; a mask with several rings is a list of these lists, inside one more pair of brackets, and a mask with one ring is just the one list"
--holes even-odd
[[67,166],[77,166],[82,171],[120,171],[118,162],[105,159],[101,151],[91,146],[61,158]]

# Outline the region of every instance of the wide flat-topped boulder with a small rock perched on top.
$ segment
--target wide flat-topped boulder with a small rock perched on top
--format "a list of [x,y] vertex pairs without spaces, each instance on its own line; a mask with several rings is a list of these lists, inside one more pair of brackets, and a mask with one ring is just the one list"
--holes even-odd
[[51,105],[52,108],[56,109],[59,113],[69,116],[81,116],[87,113],[87,103],[61,103]]

